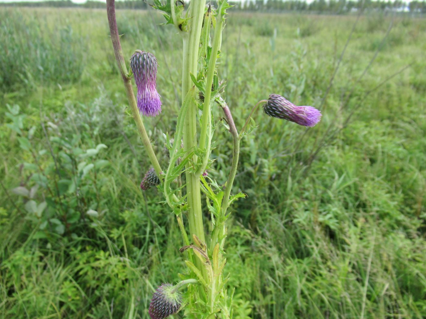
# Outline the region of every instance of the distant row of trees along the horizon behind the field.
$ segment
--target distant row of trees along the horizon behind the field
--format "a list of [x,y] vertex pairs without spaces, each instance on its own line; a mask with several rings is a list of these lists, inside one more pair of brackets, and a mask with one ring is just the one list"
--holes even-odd
[[[186,1],[189,3],[189,1]],[[209,2],[209,1],[208,1]],[[210,1],[216,5],[217,1]],[[401,0],[314,0],[311,3],[305,0],[245,0],[244,2],[230,1],[235,6],[234,10],[240,11],[311,11],[317,13],[345,14],[360,8],[370,11],[409,11],[412,13],[426,13],[426,0],[413,0],[409,3]],[[105,8],[105,3],[88,0],[86,3],[73,3],[71,0],[46,0],[38,2],[0,3],[1,6],[28,6],[28,7],[79,7],[79,8]],[[144,0],[116,1],[117,9],[148,9],[149,5]]]

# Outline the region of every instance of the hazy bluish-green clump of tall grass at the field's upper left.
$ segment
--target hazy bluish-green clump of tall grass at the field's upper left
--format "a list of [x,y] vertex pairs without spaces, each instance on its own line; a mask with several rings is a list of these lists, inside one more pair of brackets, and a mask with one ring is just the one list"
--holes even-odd
[[68,23],[49,25],[32,14],[0,11],[0,82],[3,90],[78,81],[87,46]]

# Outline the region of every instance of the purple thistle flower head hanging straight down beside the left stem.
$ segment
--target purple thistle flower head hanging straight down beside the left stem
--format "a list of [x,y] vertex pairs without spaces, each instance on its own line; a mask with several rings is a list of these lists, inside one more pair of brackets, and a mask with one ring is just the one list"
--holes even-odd
[[160,95],[156,88],[157,59],[150,52],[136,50],[130,58],[130,68],[138,88],[138,109],[146,116],[161,112]]

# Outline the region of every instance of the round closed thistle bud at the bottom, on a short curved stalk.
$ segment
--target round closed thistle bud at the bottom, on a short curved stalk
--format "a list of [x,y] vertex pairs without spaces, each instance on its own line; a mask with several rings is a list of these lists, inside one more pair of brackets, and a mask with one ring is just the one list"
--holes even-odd
[[162,284],[155,291],[148,312],[151,319],[164,319],[177,313],[181,302],[181,295],[172,284]]

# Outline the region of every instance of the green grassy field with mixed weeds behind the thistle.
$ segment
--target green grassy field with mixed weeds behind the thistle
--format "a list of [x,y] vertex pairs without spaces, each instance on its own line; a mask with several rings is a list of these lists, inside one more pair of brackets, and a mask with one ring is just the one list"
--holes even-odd
[[[165,163],[182,44],[160,22],[118,11],[124,55],[158,59],[163,112],[145,124]],[[185,271],[182,244],[139,188],[149,161],[106,12],[1,8],[0,49],[0,317],[149,318],[155,287]],[[219,75],[237,126],[271,93],[323,114],[306,130],[259,111],[242,142],[234,318],[426,317],[425,51],[420,18],[230,10]],[[215,147],[223,183],[227,132]]]

